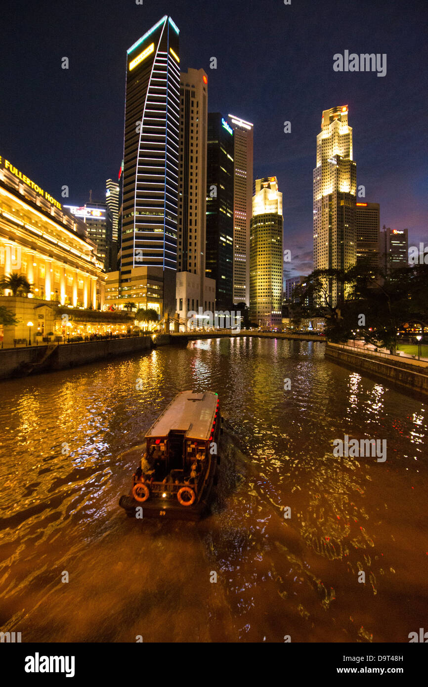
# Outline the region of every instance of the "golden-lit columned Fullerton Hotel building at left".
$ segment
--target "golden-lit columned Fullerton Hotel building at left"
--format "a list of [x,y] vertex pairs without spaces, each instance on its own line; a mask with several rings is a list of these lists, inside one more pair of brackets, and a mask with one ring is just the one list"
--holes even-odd
[[25,319],[14,338],[29,320],[34,320],[33,333],[44,333],[55,304],[93,310],[104,306],[103,264],[85,224],[0,156],[0,277],[12,272],[33,284],[28,297],[12,297],[12,291],[4,290],[2,304]]

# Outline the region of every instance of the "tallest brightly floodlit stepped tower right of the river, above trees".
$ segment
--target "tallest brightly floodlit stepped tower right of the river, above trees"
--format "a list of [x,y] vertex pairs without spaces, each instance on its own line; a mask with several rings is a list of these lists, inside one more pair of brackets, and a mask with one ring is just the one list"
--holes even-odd
[[[357,166],[352,160],[352,128],[348,106],[322,113],[317,135],[317,166],[313,170],[314,269],[348,269],[357,261],[355,201]],[[346,295],[330,283],[333,306]]]

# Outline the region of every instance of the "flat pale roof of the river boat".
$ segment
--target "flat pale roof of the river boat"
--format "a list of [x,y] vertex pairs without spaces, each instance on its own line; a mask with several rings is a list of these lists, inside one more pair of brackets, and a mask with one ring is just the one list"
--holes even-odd
[[206,441],[210,438],[217,402],[218,396],[212,391],[202,394],[183,391],[177,394],[150,427],[146,439],[166,437],[172,429],[183,431],[185,436]]

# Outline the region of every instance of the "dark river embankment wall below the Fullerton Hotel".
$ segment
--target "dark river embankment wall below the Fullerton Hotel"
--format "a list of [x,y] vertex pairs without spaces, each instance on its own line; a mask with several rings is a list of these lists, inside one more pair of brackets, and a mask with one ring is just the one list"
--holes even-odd
[[150,350],[152,346],[151,337],[146,336],[5,348],[0,350],[0,379],[74,368],[99,360],[137,354]]

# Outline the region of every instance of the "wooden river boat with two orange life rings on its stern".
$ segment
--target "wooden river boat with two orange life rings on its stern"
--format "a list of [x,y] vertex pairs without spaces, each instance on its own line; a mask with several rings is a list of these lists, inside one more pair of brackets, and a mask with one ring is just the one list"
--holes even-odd
[[218,395],[177,394],[146,434],[129,495],[129,517],[199,520],[208,510],[223,429]]

